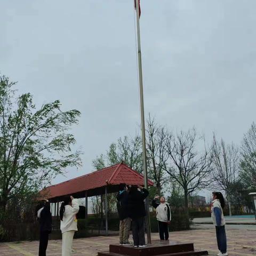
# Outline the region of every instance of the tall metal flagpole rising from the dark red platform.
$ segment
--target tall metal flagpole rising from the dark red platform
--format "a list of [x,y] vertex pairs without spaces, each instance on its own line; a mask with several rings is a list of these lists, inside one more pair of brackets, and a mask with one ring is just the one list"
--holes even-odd
[[[139,0],[136,2],[137,14],[137,41],[138,41],[138,68],[139,68],[139,86],[140,86],[140,118],[141,118],[141,137],[142,137],[142,153],[143,153],[143,173],[144,186],[148,189],[148,172],[147,172],[147,157],[146,157],[146,135],[145,135],[145,115],[144,115],[144,100],[143,100],[143,82],[142,82],[142,63],[141,63],[141,46],[140,46],[140,7]],[[149,198],[146,198],[146,223],[147,223],[147,240],[151,244],[150,233],[150,218],[149,218]]]

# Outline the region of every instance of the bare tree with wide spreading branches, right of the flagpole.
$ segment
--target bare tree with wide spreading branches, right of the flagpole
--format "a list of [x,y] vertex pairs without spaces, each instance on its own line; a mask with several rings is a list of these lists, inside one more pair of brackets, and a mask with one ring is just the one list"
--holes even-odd
[[[204,145],[202,153],[196,150],[196,143],[200,141]],[[182,187],[188,215],[188,196],[211,182],[211,148],[206,148],[204,138],[199,137],[195,129],[180,131],[176,135],[169,133],[165,148],[169,154],[169,166],[165,166],[165,171]]]

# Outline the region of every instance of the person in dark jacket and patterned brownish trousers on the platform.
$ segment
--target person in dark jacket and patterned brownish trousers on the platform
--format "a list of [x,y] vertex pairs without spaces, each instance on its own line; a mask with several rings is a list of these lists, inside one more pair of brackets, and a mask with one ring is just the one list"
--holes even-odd
[[119,245],[129,246],[129,231],[131,227],[131,218],[128,214],[128,193],[125,183],[119,185],[119,193],[116,196],[117,211],[119,215]]

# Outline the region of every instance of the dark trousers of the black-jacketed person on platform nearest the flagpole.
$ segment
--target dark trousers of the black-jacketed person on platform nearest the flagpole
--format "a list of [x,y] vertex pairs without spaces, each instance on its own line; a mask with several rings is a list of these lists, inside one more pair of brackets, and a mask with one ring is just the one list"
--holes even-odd
[[132,220],[132,238],[134,246],[145,245],[144,217]]

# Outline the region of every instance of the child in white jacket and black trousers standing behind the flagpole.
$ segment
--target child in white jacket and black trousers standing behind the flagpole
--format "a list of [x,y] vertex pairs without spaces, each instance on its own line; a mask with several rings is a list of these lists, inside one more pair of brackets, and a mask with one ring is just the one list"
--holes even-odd
[[[160,203],[156,199],[160,198]],[[165,202],[164,196],[155,196],[152,206],[156,209],[156,219],[158,221],[159,236],[161,240],[169,240],[168,225],[171,223],[171,209],[169,204]]]

